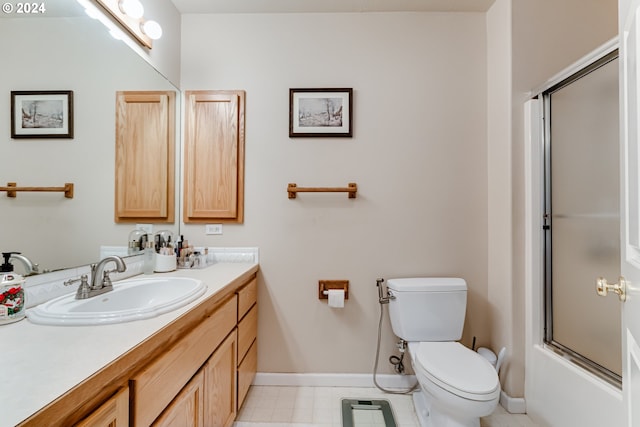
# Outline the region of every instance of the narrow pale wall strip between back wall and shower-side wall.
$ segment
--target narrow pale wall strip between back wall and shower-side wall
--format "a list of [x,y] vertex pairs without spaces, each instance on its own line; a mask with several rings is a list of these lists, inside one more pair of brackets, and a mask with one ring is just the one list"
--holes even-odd
[[[488,293],[490,347],[505,347],[500,370],[503,390],[522,396],[524,369],[515,334],[511,264],[511,1],[498,0],[487,13],[488,112]],[[521,329],[522,328],[522,329]]]

